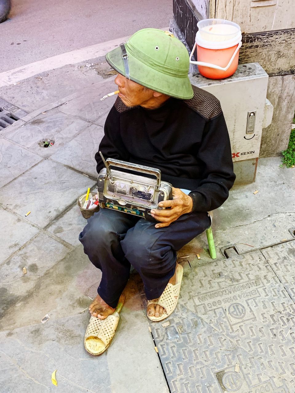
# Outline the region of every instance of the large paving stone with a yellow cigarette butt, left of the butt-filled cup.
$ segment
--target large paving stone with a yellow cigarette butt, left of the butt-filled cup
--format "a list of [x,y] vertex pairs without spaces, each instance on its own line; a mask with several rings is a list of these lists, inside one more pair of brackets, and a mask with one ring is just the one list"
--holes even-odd
[[[95,184],[59,163],[45,160],[0,189],[0,202],[41,227],[65,211],[87,187]],[[21,198],[9,198],[21,192]]]

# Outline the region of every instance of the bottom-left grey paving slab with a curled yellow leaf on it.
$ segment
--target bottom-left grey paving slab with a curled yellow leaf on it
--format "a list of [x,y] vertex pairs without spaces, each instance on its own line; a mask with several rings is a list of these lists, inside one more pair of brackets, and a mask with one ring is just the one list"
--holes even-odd
[[0,333],[1,391],[111,393],[106,354],[84,349],[87,323],[81,314]]

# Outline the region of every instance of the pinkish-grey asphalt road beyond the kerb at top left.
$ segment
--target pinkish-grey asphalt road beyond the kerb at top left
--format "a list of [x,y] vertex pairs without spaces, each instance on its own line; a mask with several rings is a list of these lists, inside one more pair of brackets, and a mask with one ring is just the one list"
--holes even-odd
[[0,72],[147,27],[169,26],[172,0],[12,0],[0,24]]

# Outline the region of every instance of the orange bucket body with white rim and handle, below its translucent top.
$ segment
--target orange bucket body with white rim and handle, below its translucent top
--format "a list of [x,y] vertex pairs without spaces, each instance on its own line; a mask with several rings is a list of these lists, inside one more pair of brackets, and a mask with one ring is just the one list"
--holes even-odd
[[[195,45],[190,54],[190,63],[197,64],[201,75],[209,79],[223,79],[233,75],[238,68],[242,34],[229,40],[205,40],[198,31]],[[192,55],[197,48],[197,61],[192,61]]]

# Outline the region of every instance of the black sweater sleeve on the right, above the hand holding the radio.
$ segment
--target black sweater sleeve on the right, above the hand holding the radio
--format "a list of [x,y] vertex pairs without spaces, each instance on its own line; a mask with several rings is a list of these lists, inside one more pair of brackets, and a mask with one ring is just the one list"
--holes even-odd
[[203,166],[203,178],[189,194],[193,199],[193,211],[217,209],[227,200],[236,179],[223,113],[206,123],[198,159]]

